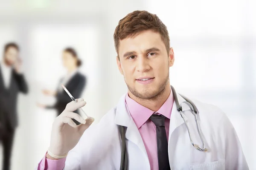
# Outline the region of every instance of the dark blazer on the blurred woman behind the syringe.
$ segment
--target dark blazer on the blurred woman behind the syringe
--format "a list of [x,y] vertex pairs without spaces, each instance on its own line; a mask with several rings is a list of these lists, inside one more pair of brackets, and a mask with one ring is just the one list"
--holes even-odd
[[[59,86],[61,86],[61,80],[60,80]],[[71,77],[71,79],[69,79],[65,87],[75,99],[78,99],[80,98],[85,85],[86,85],[86,77],[81,73],[77,72],[76,74],[73,75],[73,77]],[[60,115],[66,108],[66,105],[71,101],[72,99],[63,89],[62,91],[57,91],[55,105],[47,106],[47,108],[55,108],[57,110],[57,114]],[[78,113],[78,111],[74,111],[74,112]]]

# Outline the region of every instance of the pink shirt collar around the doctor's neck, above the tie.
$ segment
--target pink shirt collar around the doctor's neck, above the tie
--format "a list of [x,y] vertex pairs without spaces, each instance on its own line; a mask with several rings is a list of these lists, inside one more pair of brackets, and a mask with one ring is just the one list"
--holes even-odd
[[[131,117],[134,120],[138,129],[154,113],[154,111],[151,111],[149,108],[146,108],[145,106],[137,103],[134,99],[131,99],[128,94],[126,94],[126,96],[125,96],[125,102],[127,104],[128,110],[131,114]],[[163,105],[157,111],[157,113],[160,113],[163,116],[165,116],[166,118],[170,119],[173,102],[174,102],[174,97],[173,97],[172,90],[171,90],[169,97],[166,99],[166,101],[163,103]]]

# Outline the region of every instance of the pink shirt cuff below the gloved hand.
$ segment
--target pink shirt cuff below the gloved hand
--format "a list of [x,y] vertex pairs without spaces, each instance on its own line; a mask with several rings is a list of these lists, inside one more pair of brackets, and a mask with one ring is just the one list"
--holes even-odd
[[63,170],[65,166],[66,158],[51,160],[46,158],[46,154],[44,158],[38,165],[38,170]]

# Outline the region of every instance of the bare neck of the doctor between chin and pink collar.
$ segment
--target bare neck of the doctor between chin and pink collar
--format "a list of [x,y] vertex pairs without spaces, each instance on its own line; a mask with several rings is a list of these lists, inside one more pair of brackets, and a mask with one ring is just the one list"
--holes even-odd
[[128,90],[128,95],[129,97],[131,97],[131,99],[134,99],[140,105],[143,105],[144,107],[154,112],[158,111],[161,108],[164,102],[168,99],[170,93],[171,93],[170,85],[166,85],[163,91],[160,91],[160,93],[157,96],[151,99],[143,99],[143,98],[137,97],[134,94],[132,94],[131,91]]

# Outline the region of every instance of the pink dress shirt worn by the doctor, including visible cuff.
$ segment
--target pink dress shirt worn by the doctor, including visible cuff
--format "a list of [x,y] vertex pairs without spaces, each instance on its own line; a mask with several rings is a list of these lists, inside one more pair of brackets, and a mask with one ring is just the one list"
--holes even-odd
[[[125,102],[128,106],[128,110],[131,114],[131,117],[134,120],[140,132],[140,136],[143,139],[145,149],[148,154],[151,170],[158,170],[156,126],[149,119],[149,117],[154,113],[154,111],[151,111],[143,105],[140,105],[139,103],[135,102],[128,96],[128,94],[125,96]],[[173,102],[174,98],[171,91],[166,102],[164,102],[161,108],[157,111],[158,114],[162,114],[167,118],[165,120],[167,140],[169,137],[169,124]],[[65,161],[66,158],[58,160],[47,159],[45,155],[38,165],[38,170],[63,170],[65,166]]]

